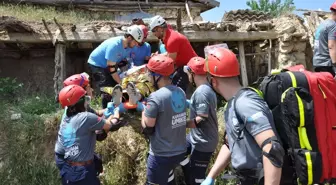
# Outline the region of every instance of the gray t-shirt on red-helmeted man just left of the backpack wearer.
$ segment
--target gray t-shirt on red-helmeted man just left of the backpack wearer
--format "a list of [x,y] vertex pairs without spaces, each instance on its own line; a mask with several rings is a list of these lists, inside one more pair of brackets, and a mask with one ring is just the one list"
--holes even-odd
[[190,119],[208,115],[208,121],[190,130],[190,142],[195,150],[213,152],[218,144],[217,97],[209,84],[197,87],[190,99]]

